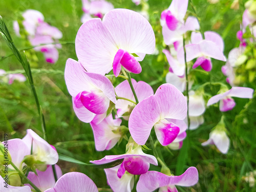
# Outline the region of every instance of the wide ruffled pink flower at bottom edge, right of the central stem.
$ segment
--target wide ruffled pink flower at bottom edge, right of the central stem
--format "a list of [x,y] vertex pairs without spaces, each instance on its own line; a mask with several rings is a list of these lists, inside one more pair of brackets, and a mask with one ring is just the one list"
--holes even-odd
[[198,170],[196,167],[189,167],[180,176],[167,176],[160,172],[149,171],[140,176],[137,183],[138,192],[151,192],[159,188],[159,191],[178,192],[175,185],[193,186],[198,182]]

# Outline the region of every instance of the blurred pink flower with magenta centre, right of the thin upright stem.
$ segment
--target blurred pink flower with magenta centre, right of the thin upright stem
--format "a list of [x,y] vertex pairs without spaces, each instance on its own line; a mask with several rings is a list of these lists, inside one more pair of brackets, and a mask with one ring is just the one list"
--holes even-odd
[[[200,33],[192,32],[191,34],[191,44],[186,45],[186,61],[193,60],[194,58],[198,59],[193,65],[193,69],[201,66],[203,70],[210,71],[212,68],[210,58],[217,60],[226,61],[226,58],[223,54],[224,43],[221,36],[215,32],[207,31],[204,33],[205,39],[202,38]],[[181,63],[184,63],[184,50],[181,48],[178,51],[177,56],[180,59]]]

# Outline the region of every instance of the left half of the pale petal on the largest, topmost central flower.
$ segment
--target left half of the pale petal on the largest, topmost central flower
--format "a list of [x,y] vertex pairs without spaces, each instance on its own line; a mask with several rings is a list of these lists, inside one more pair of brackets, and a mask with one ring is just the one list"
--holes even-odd
[[88,72],[105,75],[112,70],[118,47],[100,18],[90,19],[80,27],[75,47],[79,61]]

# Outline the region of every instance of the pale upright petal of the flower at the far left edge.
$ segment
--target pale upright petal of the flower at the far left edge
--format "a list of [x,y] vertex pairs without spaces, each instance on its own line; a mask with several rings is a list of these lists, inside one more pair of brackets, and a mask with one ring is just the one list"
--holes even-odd
[[[3,144],[6,144],[2,142]],[[26,155],[30,155],[31,148],[22,139],[10,139],[8,141],[8,151],[11,155],[12,162],[19,167]],[[25,164],[23,164],[24,166]],[[22,166],[22,167],[23,167]]]

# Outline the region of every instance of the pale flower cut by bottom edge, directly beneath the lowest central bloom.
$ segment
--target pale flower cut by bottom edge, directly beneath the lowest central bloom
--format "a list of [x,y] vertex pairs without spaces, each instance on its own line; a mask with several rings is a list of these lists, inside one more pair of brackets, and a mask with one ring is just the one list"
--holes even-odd
[[117,176],[120,165],[112,168],[105,168],[106,179],[113,191],[131,192],[134,187],[134,175],[125,172],[125,174],[119,178]]

